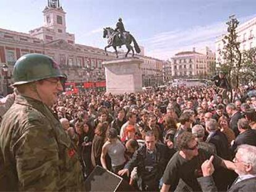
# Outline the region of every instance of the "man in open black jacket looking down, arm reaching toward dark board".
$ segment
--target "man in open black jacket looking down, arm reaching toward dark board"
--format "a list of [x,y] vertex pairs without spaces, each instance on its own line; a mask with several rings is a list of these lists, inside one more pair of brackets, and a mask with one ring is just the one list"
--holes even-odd
[[156,143],[153,131],[147,131],[145,145],[135,151],[132,159],[118,172],[119,175],[129,175],[137,166],[139,180],[138,187],[142,191],[158,191],[160,179],[163,175],[168,159],[166,146]]

